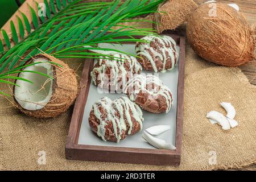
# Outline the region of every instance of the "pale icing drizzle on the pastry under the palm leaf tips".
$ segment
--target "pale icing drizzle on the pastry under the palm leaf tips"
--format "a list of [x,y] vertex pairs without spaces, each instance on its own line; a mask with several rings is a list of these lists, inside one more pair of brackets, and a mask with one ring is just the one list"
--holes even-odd
[[[90,73],[94,85],[97,85],[97,80],[100,80],[101,84],[104,84],[104,80],[106,79],[106,68],[111,69],[113,78],[111,78],[110,80],[113,81],[112,84],[115,85],[115,90],[117,90],[119,86],[118,77],[122,76],[122,80],[124,81],[126,80],[127,73],[133,74],[142,71],[141,64],[139,64],[137,59],[133,56],[128,56],[122,53],[111,53],[109,55],[113,56],[114,58],[112,60],[109,60],[105,59],[105,57],[102,57],[98,60],[98,64],[100,65],[100,67],[94,68],[93,71]],[[126,70],[125,63],[129,64],[129,71]],[[99,73],[98,78],[96,78],[96,72]]]

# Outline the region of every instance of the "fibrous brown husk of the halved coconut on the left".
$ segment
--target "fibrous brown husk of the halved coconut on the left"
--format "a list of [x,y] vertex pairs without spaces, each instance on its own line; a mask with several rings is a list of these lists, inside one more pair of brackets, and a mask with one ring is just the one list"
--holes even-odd
[[[75,75],[75,71],[69,68],[67,64],[63,63],[63,61],[47,54],[38,54],[35,57],[32,57],[32,59],[38,59],[39,57],[42,57],[48,61],[61,65],[60,67],[59,65],[52,64],[53,92],[51,100],[42,109],[31,111],[23,109],[14,97],[16,107],[18,107],[18,109],[20,109],[22,113],[30,115],[31,117],[57,117],[61,113],[67,111],[68,108],[75,101],[77,93],[79,91],[78,81]],[[32,59],[28,60],[26,64],[31,63]]]

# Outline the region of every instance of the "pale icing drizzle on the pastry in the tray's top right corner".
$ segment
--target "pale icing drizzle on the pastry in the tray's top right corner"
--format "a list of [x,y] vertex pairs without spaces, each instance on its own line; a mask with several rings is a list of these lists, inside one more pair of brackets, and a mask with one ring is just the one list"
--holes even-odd
[[[169,58],[172,61],[172,65],[171,68],[167,70],[170,71],[175,67],[175,65],[177,64],[178,55],[176,49],[176,42],[174,39],[172,39],[170,36],[148,35],[142,38],[142,40],[147,40],[148,43],[139,44],[139,46],[135,47],[135,51],[137,52],[137,56],[145,56],[150,61],[154,72],[158,72],[158,68],[155,64],[155,57],[159,57],[159,59],[163,62],[163,70],[161,71],[162,73],[166,72],[166,61]],[[155,42],[155,40],[158,40],[158,42],[160,43],[160,45],[156,44],[156,46],[158,46],[158,50],[160,50],[161,53],[155,51],[155,49],[150,46],[150,43]],[[174,48],[172,48],[172,46],[174,46]],[[168,52],[168,56],[166,52]],[[150,53],[152,53],[154,57],[152,57]]]

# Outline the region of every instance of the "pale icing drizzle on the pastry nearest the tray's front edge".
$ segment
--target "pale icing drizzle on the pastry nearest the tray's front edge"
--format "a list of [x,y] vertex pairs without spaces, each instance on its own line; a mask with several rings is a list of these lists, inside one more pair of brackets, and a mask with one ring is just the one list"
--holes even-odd
[[[102,118],[101,111],[99,110],[100,107],[102,107],[106,111],[106,117],[104,118]],[[129,110],[131,110],[131,114],[129,113]],[[115,138],[117,138],[117,142],[119,142],[121,139],[122,130],[127,130],[125,118],[129,124],[127,134],[130,135],[131,131],[133,130],[133,122],[131,118],[134,118],[135,121],[139,123],[142,130],[142,110],[141,108],[139,108],[138,105],[134,104],[134,102],[131,102],[127,97],[121,97],[114,101],[112,101],[108,97],[104,97],[93,105],[93,111],[96,118],[100,121],[100,124],[98,125],[97,135],[101,137],[104,141],[106,141],[105,126],[108,121],[112,122],[113,124],[114,134]],[[116,111],[118,112],[119,117]]]

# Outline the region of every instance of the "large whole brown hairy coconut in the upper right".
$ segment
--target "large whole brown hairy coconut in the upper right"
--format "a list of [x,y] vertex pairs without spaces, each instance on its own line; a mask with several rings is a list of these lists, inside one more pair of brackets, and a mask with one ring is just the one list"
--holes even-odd
[[216,3],[217,16],[209,16],[210,3],[200,5],[187,23],[187,38],[194,51],[213,63],[238,66],[254,59],[255,40],[245,16],[224,3]]

